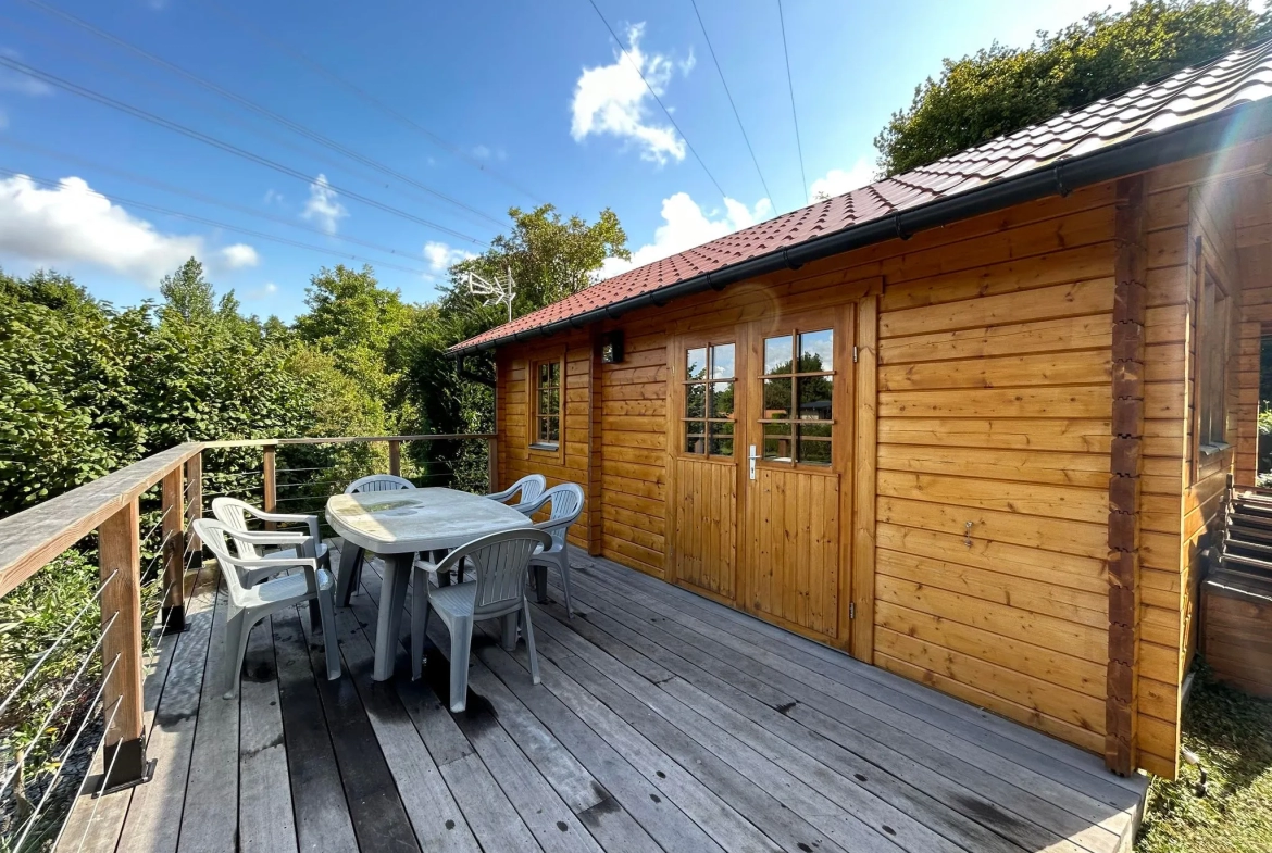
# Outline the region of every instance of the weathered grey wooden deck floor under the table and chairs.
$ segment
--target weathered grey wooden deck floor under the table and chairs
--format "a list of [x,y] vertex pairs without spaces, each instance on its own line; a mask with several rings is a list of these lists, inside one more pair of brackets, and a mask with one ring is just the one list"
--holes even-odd
[[204,679],[224,653],[209,564],[146,685],[155,778],[83,796],[60,849],[1130,848],[1142,778],[608,561],[575,564],[576,617],[556,589],[534,613],[542,685],[523,645],[483,633],[462,714],[438,699],[436,650],[422,681],[401,675],[403,648],[398,679],[371,683],[374,571],[338,615],[343,679],[315,675],[321,646],[287,611],[221,699]]

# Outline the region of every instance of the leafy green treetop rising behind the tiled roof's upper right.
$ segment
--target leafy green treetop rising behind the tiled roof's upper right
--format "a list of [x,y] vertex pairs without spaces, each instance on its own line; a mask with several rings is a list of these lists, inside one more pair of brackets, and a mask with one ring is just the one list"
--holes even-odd
[[898,174],[1272,36],[1245,0],[1146,0],[1093,13],[1025,48],[945,60],[875,137]]

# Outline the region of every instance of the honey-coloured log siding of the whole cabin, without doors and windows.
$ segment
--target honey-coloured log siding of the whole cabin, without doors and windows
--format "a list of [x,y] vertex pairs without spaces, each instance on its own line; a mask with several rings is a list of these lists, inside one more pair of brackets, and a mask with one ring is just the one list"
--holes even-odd
[[[1211,469],[1225,464],[1221,458],[1207,477],[1189,478],[1191,243],[1205,234],[1208,252],[1236,268],[1239,239],[1225,193],[1194,188],[1231,187],[1231,178],[1264,188],[1244,239],[1268,257],[1250,254],[1245,264],[1243,256],[1243,268],[1258,268],[1259,281],[1272,285],[1264,272],[1272,270],[1263,177],[1269,158],[1272,144],[1259,140],[1221,159],[1146,173],[1138,222],[1122,222],[1142,228],[1140,240],[1116,242],[1118,187],[1108,183],[598,324],[591,336],[625,333],[622,364],[600,364],[585,332],[502,347],[501,454],[522,467],[505,469],[506,478],[534,469],[525,450],[527,365],[551,347],[567,360],[575,348],[588,350],[577,357],[591,360],[591,417],[567,420],[565,430],[567,449],[590,447],[590,460],[580,456],[574,467],[567,454],[567,465],[579,482],[593,478],[589,512],[600,519],[590,525],[593,548],[674,577],[665,557],[668,482],[675,475],[668,465],[675,435],[667,406],[672,339],[852,301],[861,355],[874,362],[856,366],[857,500],[851,517],[840,520],[851,543],[857,619],[870,620],[852,625],[852,653],[1095,754],[1105,754],[1113,728],[1114,740],[1137,744],[1138,767],[1173,777],[1179,684],[1194,629],[1189,587],[1217,506]],[[1132,208],[1122,207],[1123,220]],[[1117,264],[1118,245],[1140,247],[1144,272],[1142,286],[1133,294],[1123,287],[1116,306],[1118,275],[1133,277]],[[1140,428],[1136,407],[1116,413],[1112,393],[1114,311],[1127,325],[1128,309],[1141,317],[1142,337],[1135,342],[1133,328],[1123,329],[1132,334],[1121,343],[1117,386],[1140,383]],[[1272,323],[1272,287],[1252,310],[1234,333],[1245,358],[1231,371],[1234,418],[1257,394],[1254,338],[1262,322]],[[869,329],[861,318],[870,318]],[[871,402],[868,423],[861,412]],[[1127,472],[1119,479],[1138,473],[1137,498],[1133,482],[1110,484],[1114,416],[1119,437],[1138,439],[1138,467],[1131,464],[1133,449],[1117,442]],[[1240,425],[1233,428],[1240,435]],[[1110,594],[1114,502],[1136,510],[1124,512],[1135,519],[1130,531],[1119,522],[1116,534],[1131,545],[1118,553],[1138,554],[1137,568],[1121,559],[1117,567],[1122,581],[1137,578],[1117,585],[1138,596],[1130,622],[1123,592]],[[1117,657],[1132,659],[1132,684],[1124,667],[1110,670],[1110,597],[1118,624],[1138,625],[1131,652],[1121,648],[1128,638],[1117,637]],[[1113,725],[1110,672],[1135,711]]]

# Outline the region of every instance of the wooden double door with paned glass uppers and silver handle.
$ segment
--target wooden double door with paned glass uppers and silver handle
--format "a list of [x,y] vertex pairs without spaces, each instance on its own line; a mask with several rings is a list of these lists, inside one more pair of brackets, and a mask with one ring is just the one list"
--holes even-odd
[[847,648],[854,306],[672,342],[670,580]]

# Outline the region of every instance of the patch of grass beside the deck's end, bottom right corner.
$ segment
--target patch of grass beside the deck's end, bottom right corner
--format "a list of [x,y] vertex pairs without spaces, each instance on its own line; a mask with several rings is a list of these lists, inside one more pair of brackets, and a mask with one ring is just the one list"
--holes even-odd
[[1136,853],[1267,853],[1272,850],[1272,702],[1216,683],[1205,665],[1184,708],[1183,745],[1210,777],[1198,797],[1198,768],[1155,779]]

